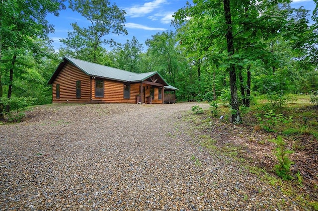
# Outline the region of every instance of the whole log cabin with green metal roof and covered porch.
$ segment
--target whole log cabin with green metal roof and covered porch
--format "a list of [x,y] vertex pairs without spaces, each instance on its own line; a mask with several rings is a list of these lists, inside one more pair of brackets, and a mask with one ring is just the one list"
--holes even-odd
[[64,57],[48,81],[53,103],[174,103],[158,72],[134,73]]

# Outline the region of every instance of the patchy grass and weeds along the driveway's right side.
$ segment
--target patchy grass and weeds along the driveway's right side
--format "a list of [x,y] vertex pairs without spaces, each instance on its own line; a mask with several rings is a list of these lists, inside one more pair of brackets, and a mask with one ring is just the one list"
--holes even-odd
[[[303,139],[312,137],[311,139],[318,140],[318,110],[310,103],[309,95],[296,95],[293,101],[283,105],[282,107],[270,107],[267,104],[266,99],[256,99],[253,102],[250,109],[242,113],[243,125],[239,127],[254,128],[254,126],[259,126],[260,122],[257,121],[256,116],[263,117],[265,113],[269,110],[273,110],[278,116],[284,117],[283,120],[271,122],[274,125],[274,133],[268,133],[268,137],[276,137],[277,135],[284,136],[284,139],[288,141],[290,146],[292,146],[295,151],[305,150],[305,146],[302,145]],[[211,112],[209,110],[204,110],[203,115],[194,115],[192,112],[188,112],[184,120],[191,122],[194,125],[192,130],[189,129],[189,133],[192,134],[191,137],[195,140],[195,144],[199,144],[203,149],[211,151],[211,153],[221,153],[228,157],[236,159],[244,168],[247,168],[251,174],[257,175],[257,177],[274,187],[280,189],[280,191],[287,196],[294,198],[302,206],[309,208],[310,210],[318,211],[318,202],[313,200],[311,195],[303,194],[301,191],[303,186],[306,185],[304,178],[300,173],[294,176],[292,181],[283,181],[281,178],[277,177],[272,171],[267,172],[267,170],[254,166],[254,160],[242,159],[240,151],[242,146],[236,146],[232,143],[227,143],[222,145],[211,138],[211,133],[214,128],[223,127],[229,129],[229,134],[231,134],[232,126],[229,123],[230,109],[227,106],[219,106],[220,116],[224,116],[224,119],[220,121],[218,117],[211,118]],[[276,116],[277,116],[276,115]],[[275,117],[276,117],[275,116]],[[292,116],[292,118],[289,118]],[[264,118],[265,119],[265,118]],[[284,121],[288,120],[288,121]],[[266,121],[266,119],[265,119]],[[212,124],[211,124],[212,122]],[[254,128],[254,133],[256,131],[263,130],[261,127],[259,129]],[[266,131],[262,133],[266,134]],[[222,133],[222,132],[221,132]],[[300,139],[300,136],[302,138]],[[306,137],[308,136],[308,137]],[[242,138],[242,137],[241,137]],[[247,137],[248,139],[248,137]],[[251,142],[255,142],[251,141]],[[267,141],[257,140],[259,145],[268,145]],[[200,160],[193,156],[193,161],[195,165],[199,166]],[[298,188],[297,188],[298,187]],[[315,190],[317,190],[316,187]],[[247,198],[245,198],[247,200]]]

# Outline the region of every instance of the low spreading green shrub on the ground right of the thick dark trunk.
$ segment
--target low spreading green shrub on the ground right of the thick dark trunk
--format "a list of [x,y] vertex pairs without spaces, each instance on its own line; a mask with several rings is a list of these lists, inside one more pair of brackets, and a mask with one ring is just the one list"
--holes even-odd
[[263,117],[258,117],[257,120],[260,126],[268,132],[276,132],[276,127],[280,127],[282,124],[288,124],[293,122],[293,117],[284,117],[283,114],[276,114],[273,110],[269,110]]

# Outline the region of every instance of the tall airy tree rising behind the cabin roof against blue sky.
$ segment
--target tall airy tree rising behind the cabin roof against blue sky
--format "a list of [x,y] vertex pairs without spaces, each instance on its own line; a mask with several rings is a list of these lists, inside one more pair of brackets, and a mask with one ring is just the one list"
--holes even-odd
[[[69,2],[69,7],[84,16],[91,25],[88,28],[81,28],[78,23],[72,23],[74,32],[69,33],[69,37],[61,41],[75,51],[83,46],[90,49],[91,57],[86,60],[98,63],[102,45],[116,44],[113,39],[105,39],[106,35],[109,33],[128,34],[124,28],[126,12],[118,8],[115,3],[110,6],[109,0],[69,0]],[[82,38],[80,42],[78,42],[79,37]]]

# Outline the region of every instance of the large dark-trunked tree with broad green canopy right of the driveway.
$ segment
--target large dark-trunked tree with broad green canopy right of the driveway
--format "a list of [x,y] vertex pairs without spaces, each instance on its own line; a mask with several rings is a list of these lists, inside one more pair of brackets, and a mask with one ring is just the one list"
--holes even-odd
[[[186,37],[181,45],[194,43],[193,49],[200,49],[196,55],[202,60],[210,60],[211,65],[228,70],[234,124],[241,122],[238,84],[242,102],[249,105],[252,68],[258,64],[275,72],[284,56],[274,50],[278,39],[295,50],[296,46],[303,46],[302,37],[308,33],[305,12],[291,9],[289,0],[280,2],[196,0],[193,6],[187,4],[174,15],[174,24],[181,26],[182,38]],[[225,52],[223,58],[213,60],[211,57]]]

